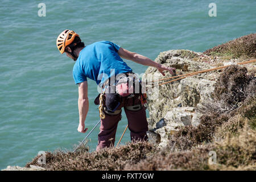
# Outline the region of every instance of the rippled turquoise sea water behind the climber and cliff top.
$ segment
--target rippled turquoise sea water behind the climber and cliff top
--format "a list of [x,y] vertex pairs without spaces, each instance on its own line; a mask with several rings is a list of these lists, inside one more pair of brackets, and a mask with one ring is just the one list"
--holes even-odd
[[[39,16],[39,3],[46,16]],[[209,16],[210,3],[217,16]],[[0,169],[24,166],[39,151],[71,150],[86,134],[77,132],[78,89],[73,60],[60,55],[56,37],[65,29],[85,44],[109,40],[154,60],[169,49],[205,51],[256,31],[256,1],[141,0],[28,1],[0,5]],[[147,67],[125,60],[136,73]],[[89,81],[90,108],[85,121],[98,121],[97,85]],[[116,140],[127,124],[123,112]],[[98,127],[90,135],[97,144]],[[130,140],[126,132],[122,144]]]

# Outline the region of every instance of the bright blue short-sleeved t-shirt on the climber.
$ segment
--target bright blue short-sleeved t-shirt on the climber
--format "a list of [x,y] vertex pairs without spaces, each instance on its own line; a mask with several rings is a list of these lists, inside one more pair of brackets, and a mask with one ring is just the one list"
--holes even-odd
[[113,75],[132,72],[118,55],[119,48],[120,46],[109,41],[96,42],[83,48],[73,67],[75,83],[79,84],[90,78],[97,85],[102,85]]

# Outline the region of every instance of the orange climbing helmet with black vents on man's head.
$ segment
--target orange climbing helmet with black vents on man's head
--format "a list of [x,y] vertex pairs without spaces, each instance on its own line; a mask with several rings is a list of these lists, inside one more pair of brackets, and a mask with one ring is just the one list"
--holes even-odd
[[56,45],[60,53],[65,52],[65,48],[73,42],[76,36],[79,37],[73,30],[64,30],[60,33],[56,40]]

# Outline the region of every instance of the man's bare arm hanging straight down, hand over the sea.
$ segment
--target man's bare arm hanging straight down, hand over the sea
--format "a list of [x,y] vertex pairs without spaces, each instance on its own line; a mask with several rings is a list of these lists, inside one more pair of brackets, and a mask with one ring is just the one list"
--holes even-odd
[[87,81],[81,82],[79,84],[79,127],[77,131],[81,133],[85,133],[87,129],[85,129],[85,119],[89,110],[89,101],[88,101],[88,84]]

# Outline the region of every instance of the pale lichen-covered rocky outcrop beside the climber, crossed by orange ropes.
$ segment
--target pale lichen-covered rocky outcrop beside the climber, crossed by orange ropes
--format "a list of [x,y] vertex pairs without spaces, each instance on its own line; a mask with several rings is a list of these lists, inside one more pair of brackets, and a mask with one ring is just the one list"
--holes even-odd
[[[183,75],[222,65],[236,64],[239,60],[222,60],[220,57],[207,56],[200,52],[171,50],[161,52],[155,61],[176,68],[177,75]],[[245,66],[249,70],[255,69],[251,64]],[[214,84],[221,72],[220,69],[201,73],[148,89],[149,138],[155,136],[158,140],[154,142],[159,142],[159,147],[164,147],[180,126],[199,125],[200,116],[203,114],[200,108],[214,102],[212,97]],[[171,75],[166,73],[164,77],[171,77]],[[159,80],[164,77],[157,69],[150,67],[145,72],[143,80]],[[159,81],[159,84],[166,81],[169,80]],[[150,88],[150,82],[147,86]],[[165,124],[157,126],[159,122]]]

